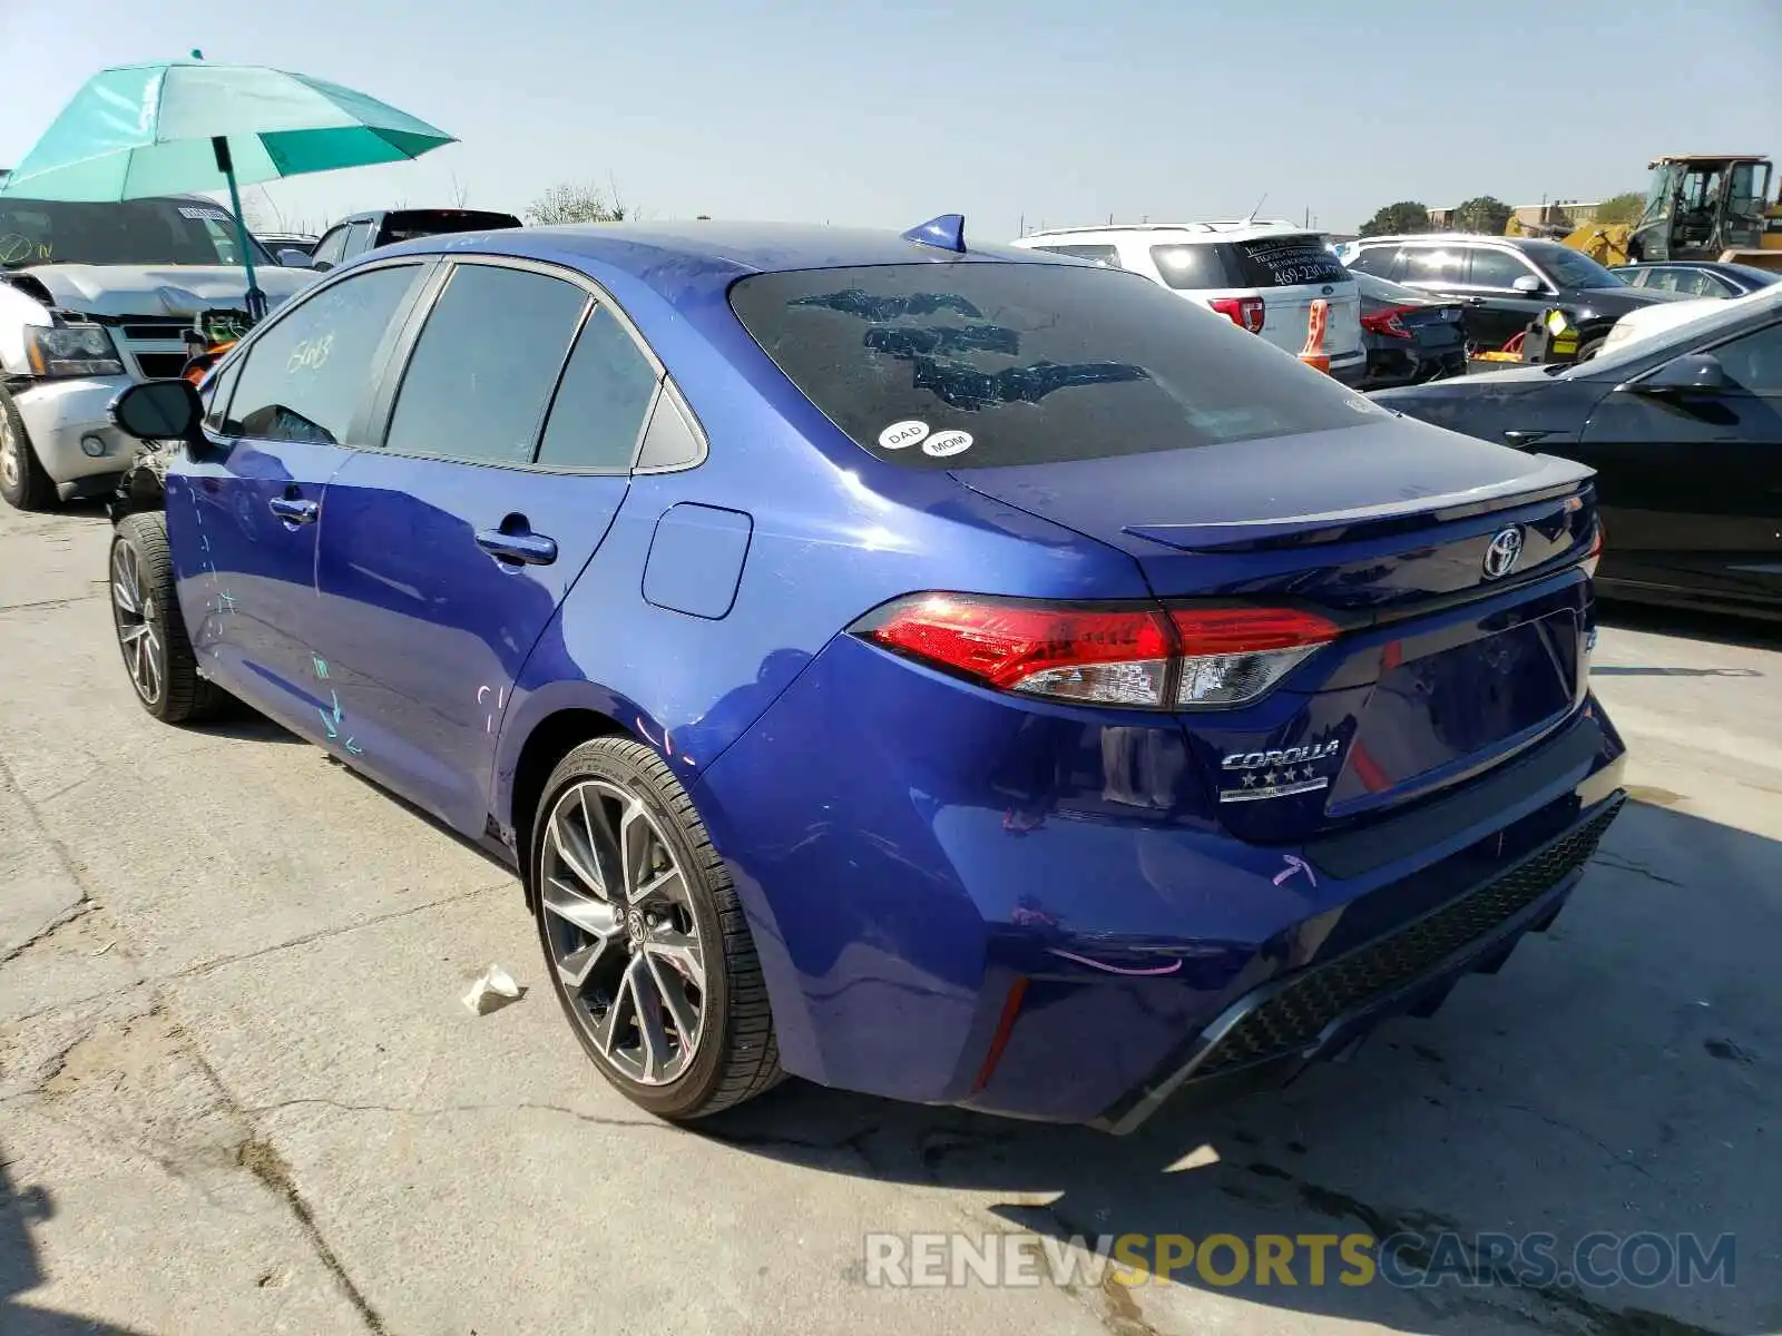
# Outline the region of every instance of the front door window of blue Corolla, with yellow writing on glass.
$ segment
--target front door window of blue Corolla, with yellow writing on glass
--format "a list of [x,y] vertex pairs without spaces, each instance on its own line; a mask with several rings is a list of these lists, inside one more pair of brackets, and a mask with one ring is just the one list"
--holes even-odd
[[226,433],[346,442],[378,374],[378,346],[419,273],[419,264],[405,264],[353,274],[267,328],[244,354]]

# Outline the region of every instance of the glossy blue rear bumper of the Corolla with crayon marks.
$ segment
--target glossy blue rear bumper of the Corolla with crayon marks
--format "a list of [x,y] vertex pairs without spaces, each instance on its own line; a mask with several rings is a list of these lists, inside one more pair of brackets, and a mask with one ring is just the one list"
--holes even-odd
[[[1012,704],[845,638],[693,800],[748,916],[788,1071],[1121,1128],[1190,1081],[1290,1074],[1490,964],[1570,891],[1591,823],[1618,805],[1623,750],[1586,700],[1477,780],[1269,846],[1221,828],[1174,725]],[[1525,882],[1518,868],[1581,828],[1588,848]],[[1533,889],[1511,901],[1506,885]],[[1265,1006],[1294,980],[1456,905],[1477,932],[1331,994],[1315,1028],[1279,1031],[1279,1053],[1249,1039],[1279,1026]]]

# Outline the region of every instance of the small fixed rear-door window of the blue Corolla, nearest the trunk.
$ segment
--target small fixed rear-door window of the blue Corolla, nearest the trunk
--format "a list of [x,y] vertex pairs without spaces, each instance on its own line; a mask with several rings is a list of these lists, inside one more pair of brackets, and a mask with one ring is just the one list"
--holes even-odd
[[649,363],[618,319],[601,306],[588,317],[551,403],[538,463],[624,472],[636,452],[643,413],[656,395]]

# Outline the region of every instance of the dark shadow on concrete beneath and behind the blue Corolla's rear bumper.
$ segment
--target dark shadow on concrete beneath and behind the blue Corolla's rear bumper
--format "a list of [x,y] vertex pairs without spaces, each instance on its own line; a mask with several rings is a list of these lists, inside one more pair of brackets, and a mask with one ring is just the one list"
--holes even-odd
[[[1308,1283],[1303,1250],[1297,1284],[1279,1274],[1256,1284],[1255,1267],[1233,1284],[1194,1265],[1174,1275],[1288,1313],[1410,1332],[1755,1336],[1782,1322],[1782,1156],[1766,1145],[1782,1092],[1766,946],[1778,901],[1782,844],[1636,802],[1554,928],[1500,974],[1465,980],[1433,1019],[1390,1021],[1353,1062],[1287,1090],[1165,1108],[1114,1138],[795,1081],[700,1131],[813,1169],[953,1190],[1009,1229],[1055,1240],[1230,1234],[1255,1250],[1258,1234],[1408,1231],[1424,1242],[1399,1254],[1401,1284],[1340,1283],[1335,1242],[1324,1284]],[[982,1233],[966,1217],[959,1227]],[[1443,1231],[1458,1242],[1442,1243]],[[1499,1279],[1516,1270],[1481,1256],[1481,1233],[1550,1233],[1570,1274],[1593,1231],[1650,1231],[1673,1249],[1695,1234],[1704,1254],[1732,1234],[1734,1283],[1456,1283],[1461,1263]],[[1593,1254],[1597,1274],[1616,1256]],[[1230,1274],[1233,1252],[1215,1263]],[[1417,1265],[1436,1274],[1418,1277]],[[1180,1329],[1169,1286],[1101,1290],[1110,1324],[1128,1324],[1110,1329]]]

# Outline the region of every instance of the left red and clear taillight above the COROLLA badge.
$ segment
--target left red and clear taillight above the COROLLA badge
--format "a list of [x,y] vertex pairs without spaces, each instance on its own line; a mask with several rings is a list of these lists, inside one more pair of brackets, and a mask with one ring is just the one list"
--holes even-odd
[[966,593],[895,599],[850,627],[998,691],[1139,709],[1240,705],[1338,627],[1287,607],[1055,606]]

